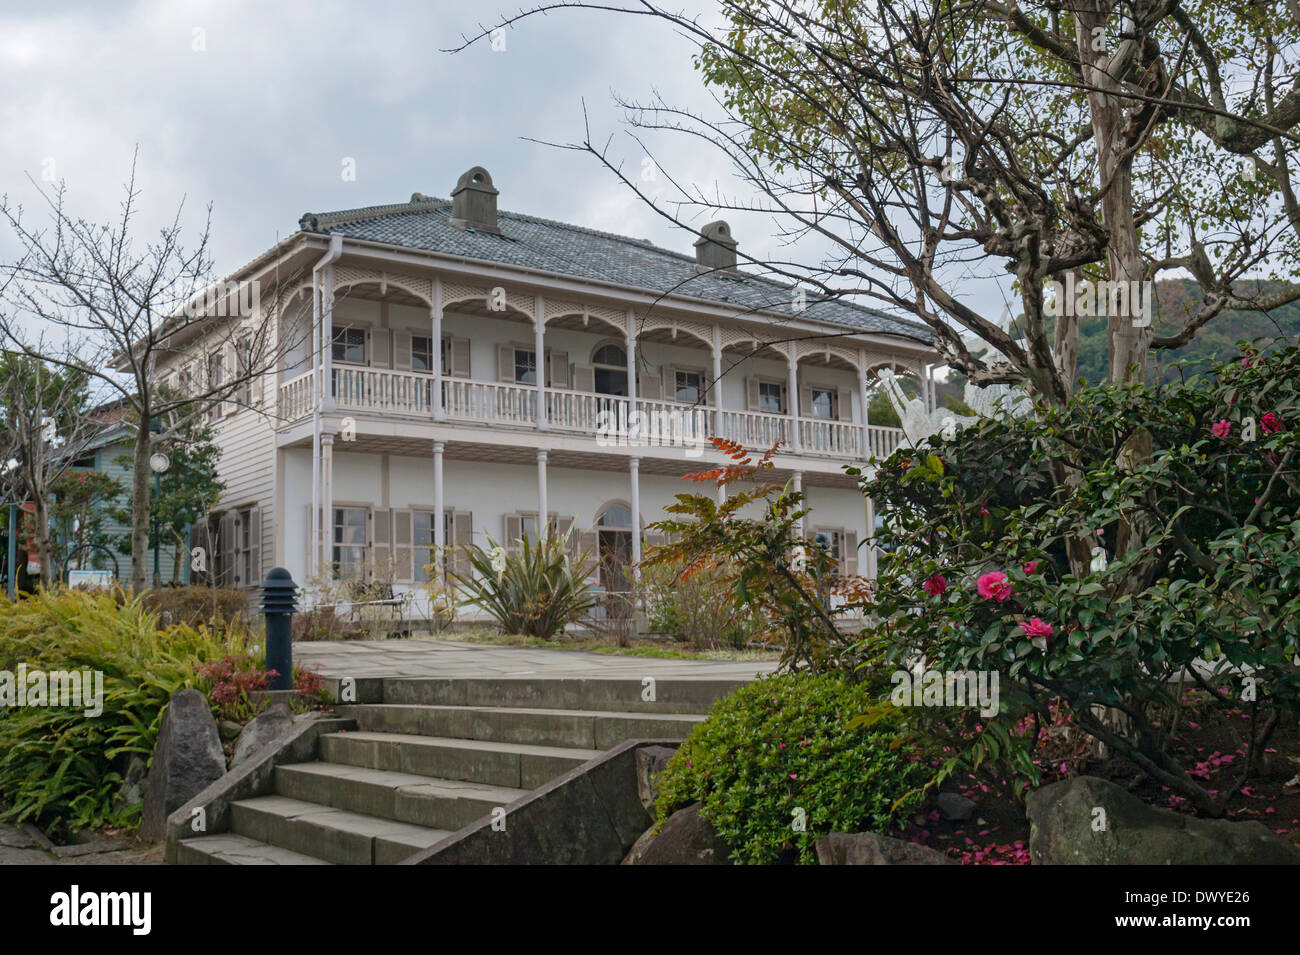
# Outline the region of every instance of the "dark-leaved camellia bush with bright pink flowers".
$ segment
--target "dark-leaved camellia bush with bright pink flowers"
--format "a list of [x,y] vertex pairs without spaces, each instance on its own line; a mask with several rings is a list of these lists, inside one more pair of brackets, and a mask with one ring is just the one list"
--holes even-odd
[[[997,759],[1036,781],[1024,729],[1058,704],[1222,815],[1300,708],[1297,390],[1300,350],[1245,348],[1173,385],[984,420],[862,476],[884,517],[863,659],[1001,676],[996,716],[914,713],[952,737],[944,770]],[[1179,680],[1247,717],[1230,790],[1173,752]]]

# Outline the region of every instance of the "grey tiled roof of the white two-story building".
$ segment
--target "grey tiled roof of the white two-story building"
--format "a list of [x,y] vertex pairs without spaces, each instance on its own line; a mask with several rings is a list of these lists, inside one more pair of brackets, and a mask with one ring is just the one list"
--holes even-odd
[[[451,201],[416,194],[410,203],[343,212],[308,213],[307,233],[341,233],[348,239],[425,249],[484,262],[612,282],[656,294],[675,294],[750,311],[794,317],[792,287],[737,270],[701,272],[692,256],[659,248],[645,239],[582,229],[517,212],[498,214],[500,234],[464,227],[451,218]],[[806,298],[800,316],[848,329],[932,342],[916,321],[849,301]]]

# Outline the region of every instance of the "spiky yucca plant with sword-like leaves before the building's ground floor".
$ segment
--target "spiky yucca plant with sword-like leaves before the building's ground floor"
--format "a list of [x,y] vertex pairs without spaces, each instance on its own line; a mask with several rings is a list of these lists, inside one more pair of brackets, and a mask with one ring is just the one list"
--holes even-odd
[[595,605],[586,582],[595,563],[590,552],[571,555],[568,534],[523,537],[515,554],[488,543],[467,544],[469,570],[452,576],[467,594],[462,603],[488,611],[504,633],[549,641]]

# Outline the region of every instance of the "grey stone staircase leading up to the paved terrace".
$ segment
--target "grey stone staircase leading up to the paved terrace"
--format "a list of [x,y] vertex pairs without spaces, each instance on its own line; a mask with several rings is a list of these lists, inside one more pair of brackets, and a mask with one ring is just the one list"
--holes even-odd
[[645,702],[629,680],[385,680],[382,702],[337,707],[355,730],[276,765],[273,793],[231,803],[229,830],[181,839],[176,860],[395,864],[627,739],[685,739],[736,686],[679,680]]

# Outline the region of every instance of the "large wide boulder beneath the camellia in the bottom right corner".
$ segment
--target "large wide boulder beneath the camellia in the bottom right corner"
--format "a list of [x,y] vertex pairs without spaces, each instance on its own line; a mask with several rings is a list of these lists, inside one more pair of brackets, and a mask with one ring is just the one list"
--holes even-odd
[[1035,865],[1300,864],[1300,850],[1258,822],[1158,809],[1092,776],[1044,786],[1026,808]]

